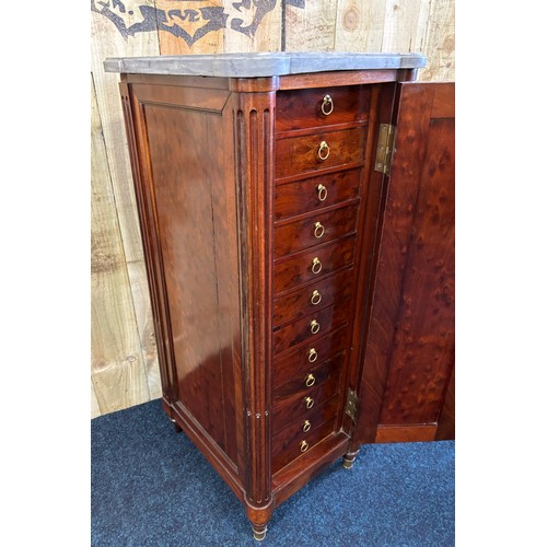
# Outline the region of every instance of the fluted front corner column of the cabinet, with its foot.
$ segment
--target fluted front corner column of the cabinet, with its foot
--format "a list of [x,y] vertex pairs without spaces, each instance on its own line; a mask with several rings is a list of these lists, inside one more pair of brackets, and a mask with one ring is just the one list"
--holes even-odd
[[[274,123],[277,79],[234,91],[234,138],[240,237],[245,504],[255,536],[271,508],[271,301]],[[265,82],[264,80],[268,80]],[[252,89],[235,80],[232,89]],[[274,88],[274,89],[272,89]],[[261,526],[264,525],[264,529]],[[264,537],[264,536],[263,536]]]

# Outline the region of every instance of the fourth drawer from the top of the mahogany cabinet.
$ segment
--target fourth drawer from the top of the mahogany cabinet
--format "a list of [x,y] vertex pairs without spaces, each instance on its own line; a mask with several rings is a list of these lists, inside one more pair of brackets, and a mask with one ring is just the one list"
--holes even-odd
[[276,228],[274,258],[292,255],[304,248],[354,233],[358,207],[358,203],[342,207]]

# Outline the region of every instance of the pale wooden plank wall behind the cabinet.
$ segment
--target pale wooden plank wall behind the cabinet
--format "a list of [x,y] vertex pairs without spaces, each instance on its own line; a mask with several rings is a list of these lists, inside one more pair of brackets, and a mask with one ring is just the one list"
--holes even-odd
[[91,415],[161,396],[142,243],[106,57],[222,51],[419,51],[455,79],[455,0],[92,0]]

